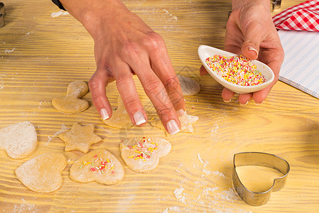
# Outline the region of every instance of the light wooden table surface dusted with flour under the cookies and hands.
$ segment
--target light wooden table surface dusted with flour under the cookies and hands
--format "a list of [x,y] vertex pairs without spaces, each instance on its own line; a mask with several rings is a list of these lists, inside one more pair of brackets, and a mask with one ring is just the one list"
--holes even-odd
[[[166,40],[175,72],[201,84],[199,94],[185,97],[188,114],[199,117],[195,132],[175,136],[149,124],[129,131],[106,126],[90,92],[83,97],[90,102],[86,111],[55,110],[53,97],[63,97],[70,82],[87,82],[94,73],[92,38],[72,16],[51,17],[59,9],[49,0],[3,2],[7,15],[6,26],[0,28],[0,128],[31,121],[38,146],[23,160],[0,151],[0,212],[319,212],[318,99],[278,82],[260,106],[241,106],[237,97],[225,103],[220,84],[199,75],[198,46],[224,46],[229,0],[124,1]],[[273,15],[298,3],[283,0]],[[145,97],[141,85],[137,87]],[[116,108],[115,84],[107,91]],[[103,141],[92,149],[107,148],[123,165],[119,140],[126,135],[164,137],[171,141],[172,151],[151,173],[135,173],[124,165],[124,180],[117,185],[72,182],[70,166],[83,153],[65,152],[65,143],[55,136],[74,122],[94,124]],[[243,151],[280,155],[291,165],[286,186],[264,206],[249,206],[232,190],[232,158]],[[62,187],[50,193],[28,190],[14,171],[26,160],[50,152],[70,159]],[[250,176],[258,174],[252,170]]]

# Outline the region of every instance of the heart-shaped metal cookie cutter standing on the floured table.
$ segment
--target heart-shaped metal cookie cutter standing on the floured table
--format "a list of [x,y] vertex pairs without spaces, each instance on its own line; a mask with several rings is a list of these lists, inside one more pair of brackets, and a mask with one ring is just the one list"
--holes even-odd
[[[283,174],[281,178],[275,178],[274,184],[265,192],[252,192],[247,189],[239,180],[236,167],[242,165],[260,165],[268,168],[279,170]],[[234,154],[234,170],[232,173],[232,184],[237,195],[247,204],[252,206],[261,206],[269,201],[271,192],[279,191],[286,183],[287,176],[290,170],[289,163],[277,156],[269,153],[247,152]]]

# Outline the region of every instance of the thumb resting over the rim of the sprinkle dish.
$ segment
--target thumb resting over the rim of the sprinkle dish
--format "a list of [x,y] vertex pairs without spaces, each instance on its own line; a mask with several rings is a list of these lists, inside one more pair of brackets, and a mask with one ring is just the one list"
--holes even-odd
[[256,60],[259,55],[259,46],[262,42],[261,32],[263,29],[257,27],[254,23],[245,28],[244,43],[242,44],[242,55],[251,60]]

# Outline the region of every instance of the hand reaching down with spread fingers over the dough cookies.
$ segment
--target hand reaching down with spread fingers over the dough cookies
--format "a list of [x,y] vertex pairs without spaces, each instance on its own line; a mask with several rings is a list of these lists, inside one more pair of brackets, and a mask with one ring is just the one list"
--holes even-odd
[[92,75],[89,87],[93,104],[102,119],[112,116],[105,87],[116,80],[132,123],[136,126],[146,124],[146,112],[132,78],[136,74],[166,131],[178,133],[178,116],[183,115],[185,102],[163,38],[126,9],[121,1],[93,0],[87,7],[89,11],[85,11],[87,1],[77,1],[76,7],[70,4],[74,0],[64,1],[63,6],[85,26],[94,39],[97,70]]

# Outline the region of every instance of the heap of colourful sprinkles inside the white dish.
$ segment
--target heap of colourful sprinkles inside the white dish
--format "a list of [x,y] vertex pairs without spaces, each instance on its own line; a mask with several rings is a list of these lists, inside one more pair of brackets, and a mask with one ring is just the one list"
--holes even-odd
[[227,82],[241,86],[254,86],[266,81],[264,75],[257,70],[256,65],[242,55],[225,57],[214,55],[206,58],[207,65]]

